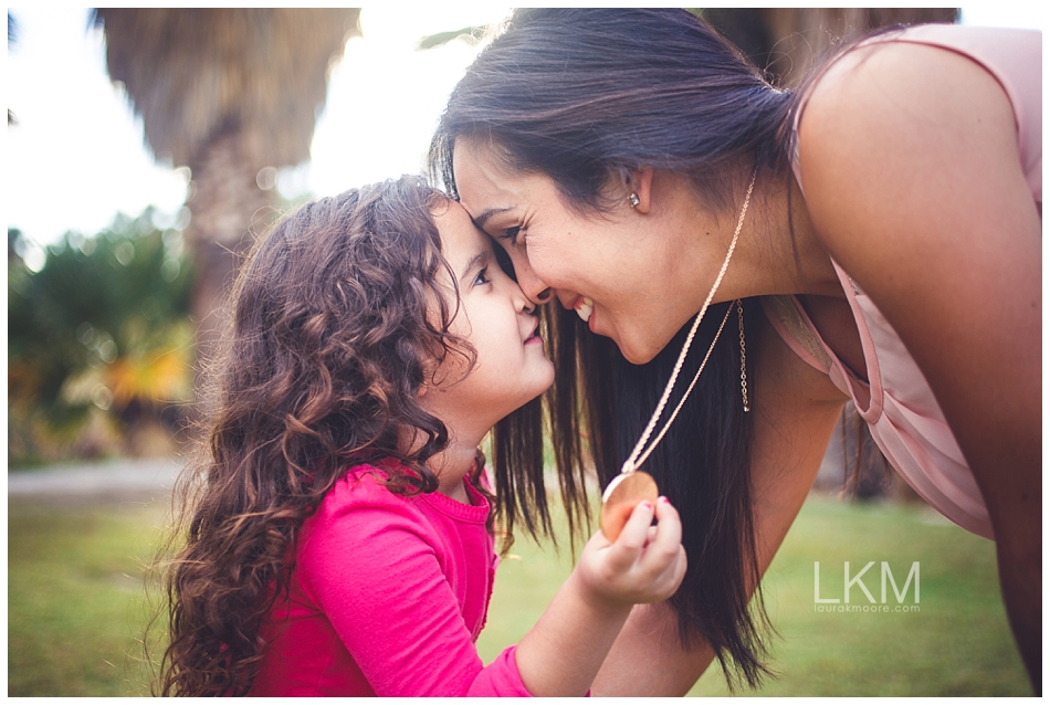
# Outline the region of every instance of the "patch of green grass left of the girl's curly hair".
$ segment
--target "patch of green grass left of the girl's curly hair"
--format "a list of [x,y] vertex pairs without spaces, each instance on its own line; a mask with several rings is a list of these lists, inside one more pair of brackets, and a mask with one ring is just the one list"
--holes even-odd
[[8,695],[149,695],[144,567],[156,505],[8,501]]

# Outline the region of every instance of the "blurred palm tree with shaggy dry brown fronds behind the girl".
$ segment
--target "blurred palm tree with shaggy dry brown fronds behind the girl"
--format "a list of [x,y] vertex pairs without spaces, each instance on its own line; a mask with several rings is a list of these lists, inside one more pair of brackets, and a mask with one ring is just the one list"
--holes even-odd
[[101,8],[109,76],[158,159],[189,167],[197,360],[240,259],[276,214],[276,176],[309,158],[328,71],[359,9]]

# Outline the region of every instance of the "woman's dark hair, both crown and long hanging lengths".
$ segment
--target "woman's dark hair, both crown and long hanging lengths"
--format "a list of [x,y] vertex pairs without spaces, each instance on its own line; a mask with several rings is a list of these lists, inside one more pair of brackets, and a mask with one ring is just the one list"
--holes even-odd
[[[431,172],[456,197],[455,143],[477,140],[513,171],[549,176],[563,202],[580,212],[600,214],[620,191],[610,185],[653,167],[686,175],[702,202],[735,215],[753,169],[759,179],[789,178],[791,106],[790,92],[767,83],[685,10],[518,10],[453,91],[431,143]],[[745,307],[752,319],[756,306]],[[697,349],[706,350],[724,311],[711,308]],[[648,365],[632,366],[611,341],[585,333],[571,312],[546,315],[555,332],[550,425],[559,475],[577,483],[592,462],[608,482],[655,407],[680,346],[672,341]],[[671,600],[682,642],[702,635],[731,685],[739,675],[754,686],[765,672],[768,620],[760,594],[748,608],[747,586],[758,577],[752,424],[741,408],[733,338],[716,346],[683,418],[645,469],[683,518],[690,568]],[[754,348],[748,364],[758,364]]]

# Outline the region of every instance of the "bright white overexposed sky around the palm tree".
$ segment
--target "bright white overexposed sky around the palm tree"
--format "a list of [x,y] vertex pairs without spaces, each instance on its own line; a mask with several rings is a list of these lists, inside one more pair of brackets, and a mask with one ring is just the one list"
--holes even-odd
[[[453,41],[418,51],[420,38],[497,23],[507,8],[485,4],[366,7],[364,36],[347,42],[333,71],[314,131],[311,160],[282,172],[287,197],[339,193],[419,172],[444,102],[480,46]],[[43,246],[70,230],[93,234],[117,212],[155,206],[170,221],[181,208],[186,169],[157,164],[144,146],[141,120],[105,71],[105,41],[87,10],[11,8],[17,36],[3,67],[8,127],[2,154],[8,227],[25,239],[27,262],[42,264]],[[1029,3],[963,8],[963,23],[1042,29]],[[393,90],[396,88],[396,90]],[[375,106],[382,106],[375,109]]]

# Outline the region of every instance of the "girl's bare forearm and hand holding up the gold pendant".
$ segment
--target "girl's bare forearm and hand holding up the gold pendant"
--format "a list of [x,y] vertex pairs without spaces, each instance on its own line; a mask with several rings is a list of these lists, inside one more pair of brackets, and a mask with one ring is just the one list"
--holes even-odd
[[[658,525],[651,527],[653,514]],[[678,512],[663,497],[634,507],[615,544],[599,532],[536,625],[517,645],[533,695],[581,696],[636,603],[671,597],[685,576]]]

